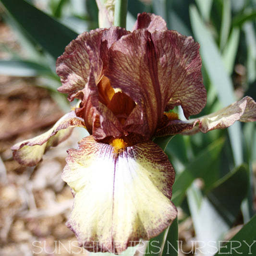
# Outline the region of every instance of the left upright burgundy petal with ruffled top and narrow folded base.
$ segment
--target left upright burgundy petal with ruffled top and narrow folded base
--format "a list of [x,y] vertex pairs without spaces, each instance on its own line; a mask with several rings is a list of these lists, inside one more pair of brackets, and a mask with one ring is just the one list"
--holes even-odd
[[[56,72],[62,83],[58,90],[67,93],[71,101],[74,98],[81,99],[80,107],[75,112],[85,119],[88,132],[92,134],[94,131],[97,139],[102,139],[111,132],[114,137],[123,134],[118,119],[105,105],[100,104],[97,85],[108,63],[108,49],[127,33],[130,32],[121,27],[85,32],[66,47],[56,63]],[[108,130],[110,127],[112,130]]]

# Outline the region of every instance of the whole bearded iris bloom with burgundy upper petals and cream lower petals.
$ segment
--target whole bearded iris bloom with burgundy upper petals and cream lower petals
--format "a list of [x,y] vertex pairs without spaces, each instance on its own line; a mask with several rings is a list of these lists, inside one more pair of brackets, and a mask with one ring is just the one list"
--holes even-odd
[[256,121],[245,97],[214,114],[186,119],[206,104],[199,44],[142,13],[133,30],[96,29],[73,40],[57,60],[62,86],[79,106],[45,134],[12,147],[23,165],[36,165],[50,146],[84,127],[89,136],[68,150],[62,179],[74,204],[67,226],[89,251],[119,254],[134,241],[163,232],[177,216],[171,202],[174,170],[158,136]]

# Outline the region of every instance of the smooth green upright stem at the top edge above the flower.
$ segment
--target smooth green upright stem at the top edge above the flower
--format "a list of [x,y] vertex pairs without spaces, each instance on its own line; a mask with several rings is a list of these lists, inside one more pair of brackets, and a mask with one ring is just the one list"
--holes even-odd
[[114,26],[126,27],[128,0],[116,0]]

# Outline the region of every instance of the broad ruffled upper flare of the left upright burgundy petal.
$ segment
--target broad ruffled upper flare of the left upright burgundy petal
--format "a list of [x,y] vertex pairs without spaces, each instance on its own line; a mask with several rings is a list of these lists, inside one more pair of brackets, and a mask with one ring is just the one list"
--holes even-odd
[[76,92],[86,87],[92,69],[97,83],[103,75],[103,61],[112,43],[127,32],[124,28],[96,29],[74,39],[57,59],[56,73],[61,77],[61,93],[76,98]]

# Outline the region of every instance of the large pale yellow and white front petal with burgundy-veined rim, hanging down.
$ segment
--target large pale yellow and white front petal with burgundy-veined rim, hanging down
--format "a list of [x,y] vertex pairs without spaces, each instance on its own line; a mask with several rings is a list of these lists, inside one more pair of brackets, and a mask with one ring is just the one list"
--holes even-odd
[[62,179],[72,188],[68,227],[89,251],[121,253],[166,229],[177,210],[171,203],[174,171],[153,142],[113,147],[92,136],[68,151]]

